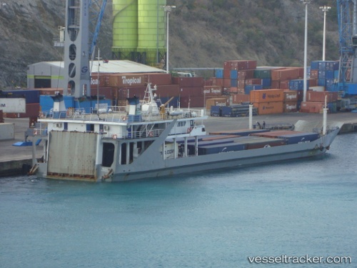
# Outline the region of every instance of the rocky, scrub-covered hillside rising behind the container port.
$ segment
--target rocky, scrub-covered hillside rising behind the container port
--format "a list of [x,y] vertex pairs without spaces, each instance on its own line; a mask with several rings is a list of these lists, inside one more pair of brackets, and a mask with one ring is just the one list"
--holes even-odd
[[[54,47],[64,25],[65,3],[3,0],[0,8],[0,89],[26,86],[26,68],[63,58]],[[5,4],[5,5],[4,5]],[[298,0],[167,0],[170,66],[221,67],[229,59],[255,59],[258,66],[303,66],[305,7]],[[329,5],[326,60],[338,59],[336,1],[308,5],[308,61],[322,57],[323,12]],[[99,36],[101,55],[111,58],[111,1]]]

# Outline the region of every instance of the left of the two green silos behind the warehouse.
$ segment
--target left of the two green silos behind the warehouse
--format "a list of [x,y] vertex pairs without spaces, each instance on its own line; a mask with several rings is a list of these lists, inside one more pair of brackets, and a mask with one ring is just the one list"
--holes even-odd
[[138,46],[138,0],[113,0],[113,46],[117,59],[131,59]]

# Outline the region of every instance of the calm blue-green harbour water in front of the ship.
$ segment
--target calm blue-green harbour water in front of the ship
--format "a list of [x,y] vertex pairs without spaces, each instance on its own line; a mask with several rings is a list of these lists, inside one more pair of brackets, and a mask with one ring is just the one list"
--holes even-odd
[[[0,179],[0,267],[248,267],[283,254],[356,267],[356,150],[348,134],[312,161],[113,184]],[[311,265],[326,267],[298,267]]]

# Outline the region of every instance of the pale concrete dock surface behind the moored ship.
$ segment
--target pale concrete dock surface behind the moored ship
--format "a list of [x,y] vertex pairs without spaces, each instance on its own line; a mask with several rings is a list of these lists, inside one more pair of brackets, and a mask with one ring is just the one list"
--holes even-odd
[[[253,116],[253,124],[294,124],[295,130],[312,131],[321,129],[322,114],[288,113]],[[29,118],[6,118],[6,123],[14,123],[14,139],[0,140],[0,177],[26,174],[32,166],[32,147],[14,147],[16,142],[25,142],[25,131],[29,129]],[[338,126],[339,134],[357,133],[357,113],[339,112],[328,114],[328,126]],[[206,131],[248,129],[248,117],[215,117],[210,116],[203,122]],[[29,140],[30,141],[30,140]],[[41,150],[38,150],[41,151]],[[37,152],[41,158],[41,152]]]

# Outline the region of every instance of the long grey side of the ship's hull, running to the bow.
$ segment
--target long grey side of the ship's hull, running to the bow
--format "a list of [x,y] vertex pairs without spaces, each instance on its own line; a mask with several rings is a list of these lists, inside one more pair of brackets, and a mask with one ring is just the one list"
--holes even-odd
[[[136,162],[129,167],[116,167],[116,172],[108,180],[111,182],[123,182],[133,179],[146,179],[151,177],[167,177],[178,174],[189,174],[216,169],[232,167],[248,167],[258,164],[283,162],[291,159],[316,157],[324,154],[333,139],[338,134],[338,129],[331,131],[326,136],[313,142],[283,145],[279,147],[267,147],[261,149],[249,149],[238,152],[226,152],[195,157],[183,157],[177,159],[160,159],[157,162],[153,157],[144,159],[146,164]],[[143,159],[141,159],[143,160]],[[157,159],[156,159],[157,160]],[[159,167],[159,168],[158,168]]]

